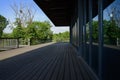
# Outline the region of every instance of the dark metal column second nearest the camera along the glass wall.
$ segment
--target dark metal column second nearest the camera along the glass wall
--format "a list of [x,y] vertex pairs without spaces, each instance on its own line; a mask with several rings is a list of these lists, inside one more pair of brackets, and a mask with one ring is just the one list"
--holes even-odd
[[92,66],[92,0],[89,0],[89,65]]

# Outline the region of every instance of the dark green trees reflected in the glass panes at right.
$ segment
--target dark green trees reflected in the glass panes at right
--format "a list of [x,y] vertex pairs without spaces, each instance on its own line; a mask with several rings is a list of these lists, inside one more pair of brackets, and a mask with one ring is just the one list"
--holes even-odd
[[[98,42],[98,21],[93,21],[93,41]],[[103,21],[104,29],[104,42],[105,44],[116,44],[116,38],[120,38],[120,28],[116,25],[115,21]]]

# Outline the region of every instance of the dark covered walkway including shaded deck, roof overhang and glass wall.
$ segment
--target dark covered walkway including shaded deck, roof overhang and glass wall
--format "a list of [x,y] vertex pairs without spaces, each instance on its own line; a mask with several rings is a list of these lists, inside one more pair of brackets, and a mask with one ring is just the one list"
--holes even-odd
[[[103,44],[103,10],[114,0],[34,1],[56,26],[70,27],[70,43],[51,44],[0,61],[0,80],[120,79],[120,50]],[[97,14],[99,38],[94,45],[92,19]]]

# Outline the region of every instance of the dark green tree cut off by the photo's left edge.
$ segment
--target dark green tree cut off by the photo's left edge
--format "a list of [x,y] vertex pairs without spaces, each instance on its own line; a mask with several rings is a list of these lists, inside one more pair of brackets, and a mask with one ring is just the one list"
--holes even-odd
[[3,30],[7,26],[7,24],[8,24],[7,19],[4,16],[0,15],[0,38],[1,38],[2,34],[3,34]]

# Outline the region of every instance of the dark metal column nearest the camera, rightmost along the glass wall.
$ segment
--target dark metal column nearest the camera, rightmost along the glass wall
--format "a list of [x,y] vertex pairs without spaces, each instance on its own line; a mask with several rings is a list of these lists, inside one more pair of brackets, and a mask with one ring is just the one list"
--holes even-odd
[[102,80],[102,53],[103,53],[103,0],[98,0],[98,20],[99,20],[99,68],[98,75]]

